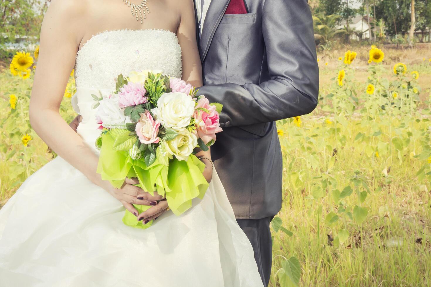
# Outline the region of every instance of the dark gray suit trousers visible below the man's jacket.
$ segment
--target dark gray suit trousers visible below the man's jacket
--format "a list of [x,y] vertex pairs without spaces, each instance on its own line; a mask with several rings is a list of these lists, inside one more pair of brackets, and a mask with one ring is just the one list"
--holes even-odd
[[274,216],[262,219],[237,219],[238,225],[247,235],[254,250],[257,268],[263,285],[269,284],[272,266],[272,239],[269,223]]

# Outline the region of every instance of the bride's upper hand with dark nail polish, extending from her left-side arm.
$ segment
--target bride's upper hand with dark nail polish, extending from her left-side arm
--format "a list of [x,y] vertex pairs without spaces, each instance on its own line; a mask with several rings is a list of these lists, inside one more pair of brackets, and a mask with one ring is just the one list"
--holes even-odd
[[123,206],[130,211],[134,216],[138,215],[138,211],[133,204],[149,205],[155,207],[162,196],[154,192],[154,196],[144,191],[142,188],[135,186],[139,181],[136,178],[126,178],[121,188],[114,188],[109,182],[110,187],[105,188],[114,198],[118,199]]

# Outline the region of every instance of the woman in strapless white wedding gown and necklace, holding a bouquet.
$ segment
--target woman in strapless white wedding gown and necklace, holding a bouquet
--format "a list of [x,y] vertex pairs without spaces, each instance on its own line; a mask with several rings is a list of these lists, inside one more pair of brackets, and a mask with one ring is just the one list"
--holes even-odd
[[[175,216],[159,195],[127,179],[113,188],[96,173],[92,90],[116,75],[162,70],[202,86],[192,0],[53,0],[41,30],[31,95],[36,133],[59,155],[30,176],[0,210],[0,286],[262,286],[253,249],[237,225],[208,152],[203,200]],[[142,11],[142,10],[141,10]],[[134,12],[134,10],[132,10]],[[60,117],[75,68],[77,133]],[[132,204],[152,206],[137,214]],[[145,230],[124,210],[157,220]]]

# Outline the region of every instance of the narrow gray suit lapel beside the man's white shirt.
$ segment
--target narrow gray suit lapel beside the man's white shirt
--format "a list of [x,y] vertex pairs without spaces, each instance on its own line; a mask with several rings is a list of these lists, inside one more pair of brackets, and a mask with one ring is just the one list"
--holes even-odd
[[[199,5],[199,0],[196,2]],[[211,4],[209,4],[199,42],[200,60],[202,62],[205,60],[212,37],[214,37],[215,29],[217,29],[220,21],[222,21],[222,17],[225,14],[226,8],[228,8],[229,2],[230,0],[212,0]]]

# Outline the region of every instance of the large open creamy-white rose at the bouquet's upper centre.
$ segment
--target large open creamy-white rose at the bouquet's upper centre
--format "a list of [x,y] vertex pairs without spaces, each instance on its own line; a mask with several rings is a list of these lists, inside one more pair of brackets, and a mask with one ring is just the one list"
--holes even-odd
[[184,93],[164,93],[151,111],[163,126],[181,129],[190,124],[194,104],[192,97]]

